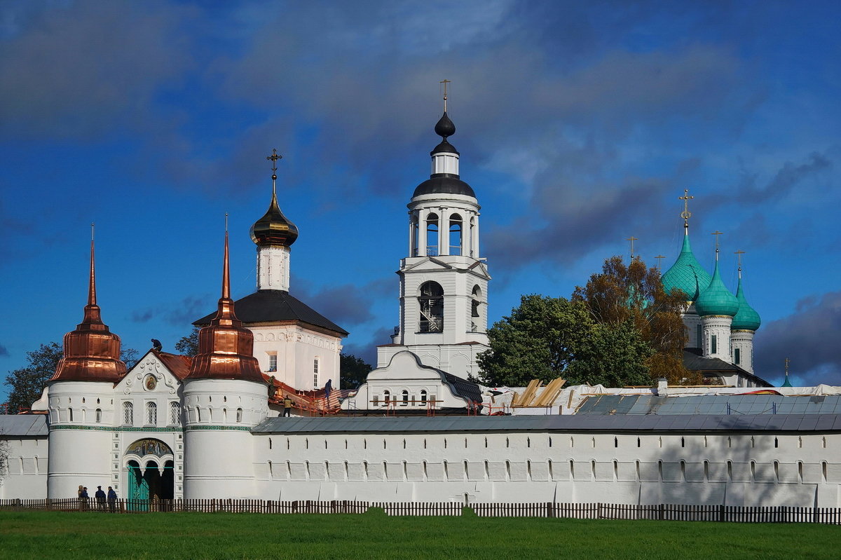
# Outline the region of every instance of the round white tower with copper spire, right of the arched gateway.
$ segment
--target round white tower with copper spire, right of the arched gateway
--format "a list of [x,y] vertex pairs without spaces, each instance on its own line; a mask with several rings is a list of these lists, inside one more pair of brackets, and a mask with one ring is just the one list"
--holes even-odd
[[[254,335],[230,298],[228,232],[222,297],[210,324],[198,331],[198,354],[184,379],[184,497],[255,495],[251,428],[267,415],[267,385],[253,355]],[[220,452],[221,451],[221,452]]]

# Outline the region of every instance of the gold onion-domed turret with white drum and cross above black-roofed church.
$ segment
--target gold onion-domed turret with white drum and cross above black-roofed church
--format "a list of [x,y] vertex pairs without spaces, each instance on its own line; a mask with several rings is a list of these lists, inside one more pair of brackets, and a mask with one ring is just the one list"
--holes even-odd
[[272,161],[272,200],[266,214],[251,226],[251,240],[257,244],[257,289],[289,291],[290,247],[298,239],[298,228],[283,215],[278,206],[276,182],[277,150],[267,160]]

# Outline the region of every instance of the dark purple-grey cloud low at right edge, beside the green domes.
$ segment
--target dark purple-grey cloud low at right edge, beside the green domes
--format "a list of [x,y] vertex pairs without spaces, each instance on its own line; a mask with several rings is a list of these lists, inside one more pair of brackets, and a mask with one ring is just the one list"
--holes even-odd
[[756,335],[754,370],[760,377],[781,378],[785,358],[790,372],[805,385],[841,385],[841,291],[809,296],[796,312],[762,325]]

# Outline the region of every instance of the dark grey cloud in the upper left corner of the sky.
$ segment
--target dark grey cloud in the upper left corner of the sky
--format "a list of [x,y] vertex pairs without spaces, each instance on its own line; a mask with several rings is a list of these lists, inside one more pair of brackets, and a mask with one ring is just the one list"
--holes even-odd
[[44,4],[0,39],[0,127],[77,138],[161,124],[148,109],[188,64],[177,27],[190,13],[162,2]]

